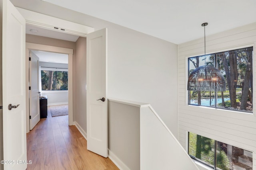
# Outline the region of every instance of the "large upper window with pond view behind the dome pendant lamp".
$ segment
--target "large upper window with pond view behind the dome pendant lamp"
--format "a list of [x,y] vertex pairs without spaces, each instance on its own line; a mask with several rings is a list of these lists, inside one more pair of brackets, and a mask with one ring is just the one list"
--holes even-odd
[[252,47],[188,58],[188,76],[199,66],[216,67],[226,80],[226,91],[188,91],[188,104],[252,112]]

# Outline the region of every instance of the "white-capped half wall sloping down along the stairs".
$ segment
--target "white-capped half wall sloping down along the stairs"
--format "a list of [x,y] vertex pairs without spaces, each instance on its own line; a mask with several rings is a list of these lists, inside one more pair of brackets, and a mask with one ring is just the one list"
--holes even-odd
[[199,170],[150,104],[108,101],[109,157],[120,170]]

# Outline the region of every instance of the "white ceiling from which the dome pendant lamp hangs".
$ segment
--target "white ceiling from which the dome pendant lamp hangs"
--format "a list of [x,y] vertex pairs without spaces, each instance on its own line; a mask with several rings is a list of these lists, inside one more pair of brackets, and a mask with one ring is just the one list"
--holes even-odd
[[[11,2],[25,9],[48,11],[55,9],[52,7],[55,4],[175,44],[202,38],[204,28],[201,24],[204,22],[208,22],[206,36],[256,22],[256,0],[11,0]],[[69,17],[66,13],[62,15]]]

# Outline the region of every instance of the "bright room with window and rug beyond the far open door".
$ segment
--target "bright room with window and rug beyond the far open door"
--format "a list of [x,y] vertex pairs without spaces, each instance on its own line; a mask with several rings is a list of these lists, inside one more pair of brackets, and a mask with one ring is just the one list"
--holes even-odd
[[65,112],[63,115],[68,115],[68,55],[33,50],[31,52],[39,58],[40,99],[46,99],[47,106],[54,106],[50,107],[54,116],[61,115],[58,109]]

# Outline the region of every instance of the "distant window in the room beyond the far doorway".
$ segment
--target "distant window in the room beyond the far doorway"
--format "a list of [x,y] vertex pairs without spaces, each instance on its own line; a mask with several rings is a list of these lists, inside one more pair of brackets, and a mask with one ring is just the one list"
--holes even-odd
[[42,90],[68,90],[68,72],[41,70]]

